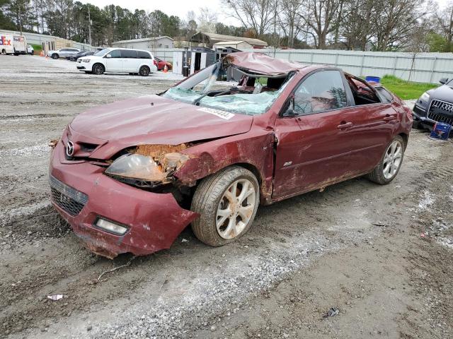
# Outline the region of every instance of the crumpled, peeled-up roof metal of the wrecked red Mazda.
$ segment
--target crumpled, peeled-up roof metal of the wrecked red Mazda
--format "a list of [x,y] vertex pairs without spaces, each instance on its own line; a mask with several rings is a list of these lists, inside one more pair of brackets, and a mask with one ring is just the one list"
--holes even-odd
[[226,62],[230,66],[246,71],[246,73],[263,74],[266,76],[280,76],[306,67],[298,62],[285,61],[269,57],[264,53],[237,52],[228,54]]

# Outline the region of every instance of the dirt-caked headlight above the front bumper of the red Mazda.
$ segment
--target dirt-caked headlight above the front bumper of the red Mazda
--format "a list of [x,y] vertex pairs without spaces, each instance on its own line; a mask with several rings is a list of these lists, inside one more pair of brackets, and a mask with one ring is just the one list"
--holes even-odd
[[165,182],[170,174],[187,160],[189,160],[189,156],[182,153],[167,153],[162,157],[130,153],[118,157],[108,169],[105,169],[105,174],[151,182]]

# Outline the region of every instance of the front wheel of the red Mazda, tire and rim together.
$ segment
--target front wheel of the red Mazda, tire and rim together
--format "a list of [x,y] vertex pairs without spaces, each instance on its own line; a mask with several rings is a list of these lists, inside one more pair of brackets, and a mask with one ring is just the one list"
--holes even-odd
[[[231,191],[235,184],[236,203],[231,206],[228,196],[233,198]],[[248,196],[238,204],[244,186],[247,186]],[[239,166],[226,167],[203,179],[192,199],[191,210],[200,214],[200,217],[192,222],[195,236],[210,246],[223,246],[242,237],[255,218],[260,202],[259,192],[255,175]],[[221,211],[224,212],[220,213]]]

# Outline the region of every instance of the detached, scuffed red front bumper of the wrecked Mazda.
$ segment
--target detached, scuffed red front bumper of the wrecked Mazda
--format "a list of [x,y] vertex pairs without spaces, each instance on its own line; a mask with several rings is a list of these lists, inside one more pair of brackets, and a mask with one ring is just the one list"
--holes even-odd
[[[66,160],[62,141],[52,152],[50,176],[66,187],[59,195],[52,194],[52,204],[86,247],[96,254],[114,258],[126,252],[142,256],[168,249],[178,234],[198,216],[181,208],[172,194],[136,189],[103,172],[103,167],[90,162]],[[67,186],[74,190],[69,192]],[[79,192],[80,197],[86,197],[86,203],[76,215],[78,210],[68,210],[63,204],[68,198],[74,198],[74,191]],[[122,236],[101,230],[93,226],[99,217],[125,225],[128,230]]]

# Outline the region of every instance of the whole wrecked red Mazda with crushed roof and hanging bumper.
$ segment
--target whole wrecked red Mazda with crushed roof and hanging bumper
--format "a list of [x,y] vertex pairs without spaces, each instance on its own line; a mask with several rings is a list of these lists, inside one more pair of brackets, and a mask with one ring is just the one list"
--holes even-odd
[[[240,79],[229,87],[219,73]],[[412,112],[377,83],[328,66],[229,54],[160,95],[79,114],[56,142],[52,203],[108,258],[168,249],[190,223],[220,246],[259,204],[398,173]]]

